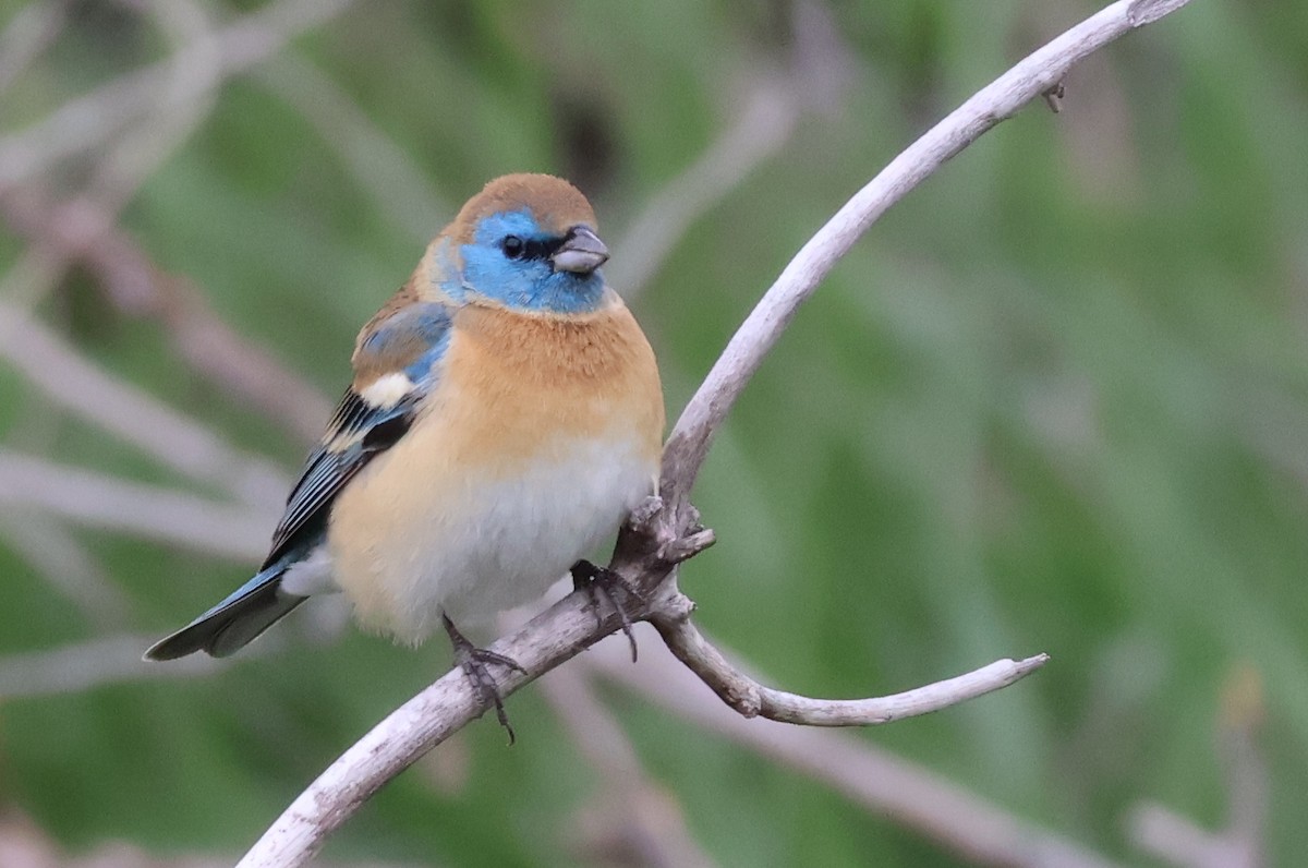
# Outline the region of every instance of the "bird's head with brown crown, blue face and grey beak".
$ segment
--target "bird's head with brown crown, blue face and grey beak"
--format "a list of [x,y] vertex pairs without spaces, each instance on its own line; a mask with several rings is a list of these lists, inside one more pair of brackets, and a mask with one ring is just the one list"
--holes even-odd
[[566,181],[496,178],[463,206],[445,237],[464,301],[564,314],[603,302],[599,267],[608,249],[586,196]]

